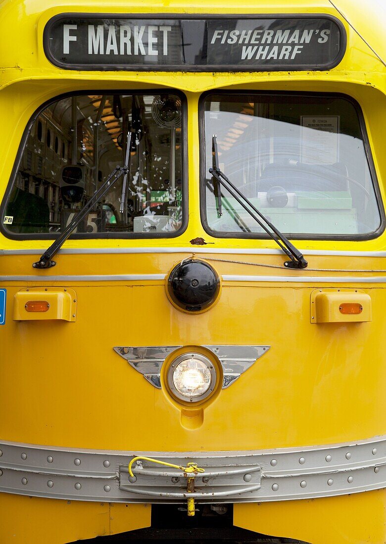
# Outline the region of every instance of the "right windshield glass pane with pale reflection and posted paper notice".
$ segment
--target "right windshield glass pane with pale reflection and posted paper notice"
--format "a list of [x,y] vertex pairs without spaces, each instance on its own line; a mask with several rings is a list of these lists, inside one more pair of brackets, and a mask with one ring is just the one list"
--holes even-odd
[[[359,236],[381,226],[356,107],[342,97],[226,95],[205,100],[206,221],[218,233],[263,233],[209,174],[219,168],[287,235]],[[311,237],[311,236],[310,236]]]

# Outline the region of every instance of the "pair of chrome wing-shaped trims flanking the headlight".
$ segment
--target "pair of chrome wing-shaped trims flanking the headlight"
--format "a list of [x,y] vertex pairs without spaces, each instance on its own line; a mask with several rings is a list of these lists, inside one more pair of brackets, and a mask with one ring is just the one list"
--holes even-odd
[[[182,348],[174,346],[143,346],[113,348],[130,366],[136,369],[152,385],[161,389],[161,367],[173,351]],[[204,345],[218,358],[223,368],[223,389],[233,384],[254,362],[264,355],[269,345]],[[189,353],[189,352],[188,352]]]

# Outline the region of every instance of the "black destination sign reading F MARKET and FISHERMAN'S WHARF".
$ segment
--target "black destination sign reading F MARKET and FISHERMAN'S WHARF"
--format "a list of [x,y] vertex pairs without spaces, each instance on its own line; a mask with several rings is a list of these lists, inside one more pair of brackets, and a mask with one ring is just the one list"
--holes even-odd
[[48,21],[47,58],[65,69],[328,70],[342,59],[335,17],[65,14]]

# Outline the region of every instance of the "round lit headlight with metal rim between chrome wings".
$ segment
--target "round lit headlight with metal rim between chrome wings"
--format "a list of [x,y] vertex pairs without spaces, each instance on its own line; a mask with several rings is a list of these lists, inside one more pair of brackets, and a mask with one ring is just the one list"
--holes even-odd
[[211,361],[199,354],[184,354],[168,370],[168,385],[175,397],[191,403],[205,399],[216,384],[216,370]]

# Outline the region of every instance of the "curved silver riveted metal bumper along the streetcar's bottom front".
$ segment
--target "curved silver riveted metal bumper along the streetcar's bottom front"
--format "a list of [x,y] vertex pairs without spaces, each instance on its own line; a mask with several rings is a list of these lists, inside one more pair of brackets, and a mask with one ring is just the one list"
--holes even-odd
[[145,455],[205,469],[198,503],[263,502],[359,493],[386,487],[386,436],[356,443],[220,453],[116,452],[0,442],[0,491],[36,497],[126,503],[183,503],[186,475],[141,461]]

